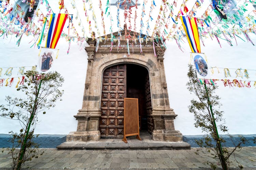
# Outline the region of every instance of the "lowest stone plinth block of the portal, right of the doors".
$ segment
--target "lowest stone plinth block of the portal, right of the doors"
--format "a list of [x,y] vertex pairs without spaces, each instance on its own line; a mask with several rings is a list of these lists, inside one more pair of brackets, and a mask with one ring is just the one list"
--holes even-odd
[[176,130],[154,130],[152,132],[152,139],[157,141],[181,142],[182,138],[182,133]]

